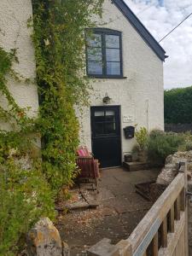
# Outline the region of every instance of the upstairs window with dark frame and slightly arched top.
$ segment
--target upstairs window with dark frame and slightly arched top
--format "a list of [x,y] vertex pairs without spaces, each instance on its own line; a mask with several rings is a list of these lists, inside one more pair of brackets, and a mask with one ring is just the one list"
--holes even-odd
[[[89,33],[90,34],[90,33]],[[121,32],[94,29],[86,34],[87,74],[98,78],[121,78]]]

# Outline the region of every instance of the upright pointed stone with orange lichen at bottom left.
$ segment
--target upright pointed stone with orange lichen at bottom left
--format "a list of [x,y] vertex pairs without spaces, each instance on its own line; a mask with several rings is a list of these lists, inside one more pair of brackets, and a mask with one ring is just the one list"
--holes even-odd
[[49,218],[41,218],[27,235],[29,256],[62,256],[59,231]]

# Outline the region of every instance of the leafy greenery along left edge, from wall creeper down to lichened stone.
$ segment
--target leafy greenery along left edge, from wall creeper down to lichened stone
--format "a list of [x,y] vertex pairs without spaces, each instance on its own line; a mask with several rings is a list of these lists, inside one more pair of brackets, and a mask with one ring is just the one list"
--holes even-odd
[[[36,154],[34,119],[20,108],[9,92],[8,79],[20,80],[12,65],[18,61],[15,49],[0,48],[0,255],[16,255],[20,241],[39,217],[53,218],[54,196],[42,173]],[[29,170],[30,169],[30,170]],[[27,218],[26,218],[27,216]]]

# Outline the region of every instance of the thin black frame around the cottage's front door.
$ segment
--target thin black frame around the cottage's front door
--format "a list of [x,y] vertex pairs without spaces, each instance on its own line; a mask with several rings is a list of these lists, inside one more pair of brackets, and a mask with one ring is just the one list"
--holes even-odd
[[[119,143],[120,143],[120,162],[121,162],[121,166],[123,163],[123,156],[122,156],[122,131],[121,131],[121,105],[94,105],[94,106],[90,106],[90,140],[91,140],[91,152],[93,150],[93,140],[92,140],[92,119],[91,119],[91,108],[119,108]],[[110,168],[115,168],[115,167],[120,167],[120,166],[111,166],[111,167],[104,167],[102,169],[110,169]]]

